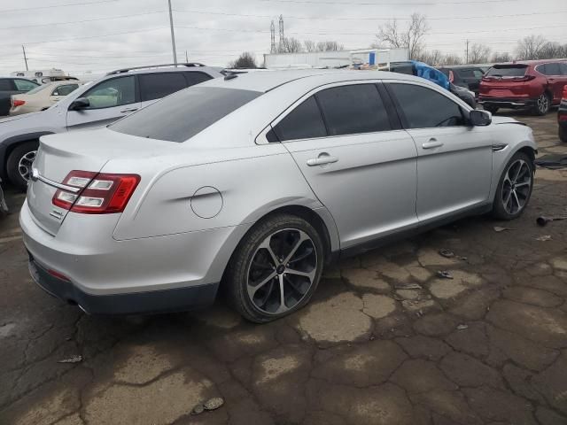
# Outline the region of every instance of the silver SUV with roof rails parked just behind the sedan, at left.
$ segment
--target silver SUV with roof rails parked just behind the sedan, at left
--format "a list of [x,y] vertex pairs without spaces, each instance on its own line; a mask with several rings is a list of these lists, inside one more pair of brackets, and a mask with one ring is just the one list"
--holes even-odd
[[0,177],[25,190],[40,136],[102,127],[161,97],[221,76],[196,63],[119,69],[46,111],[0,120]]

